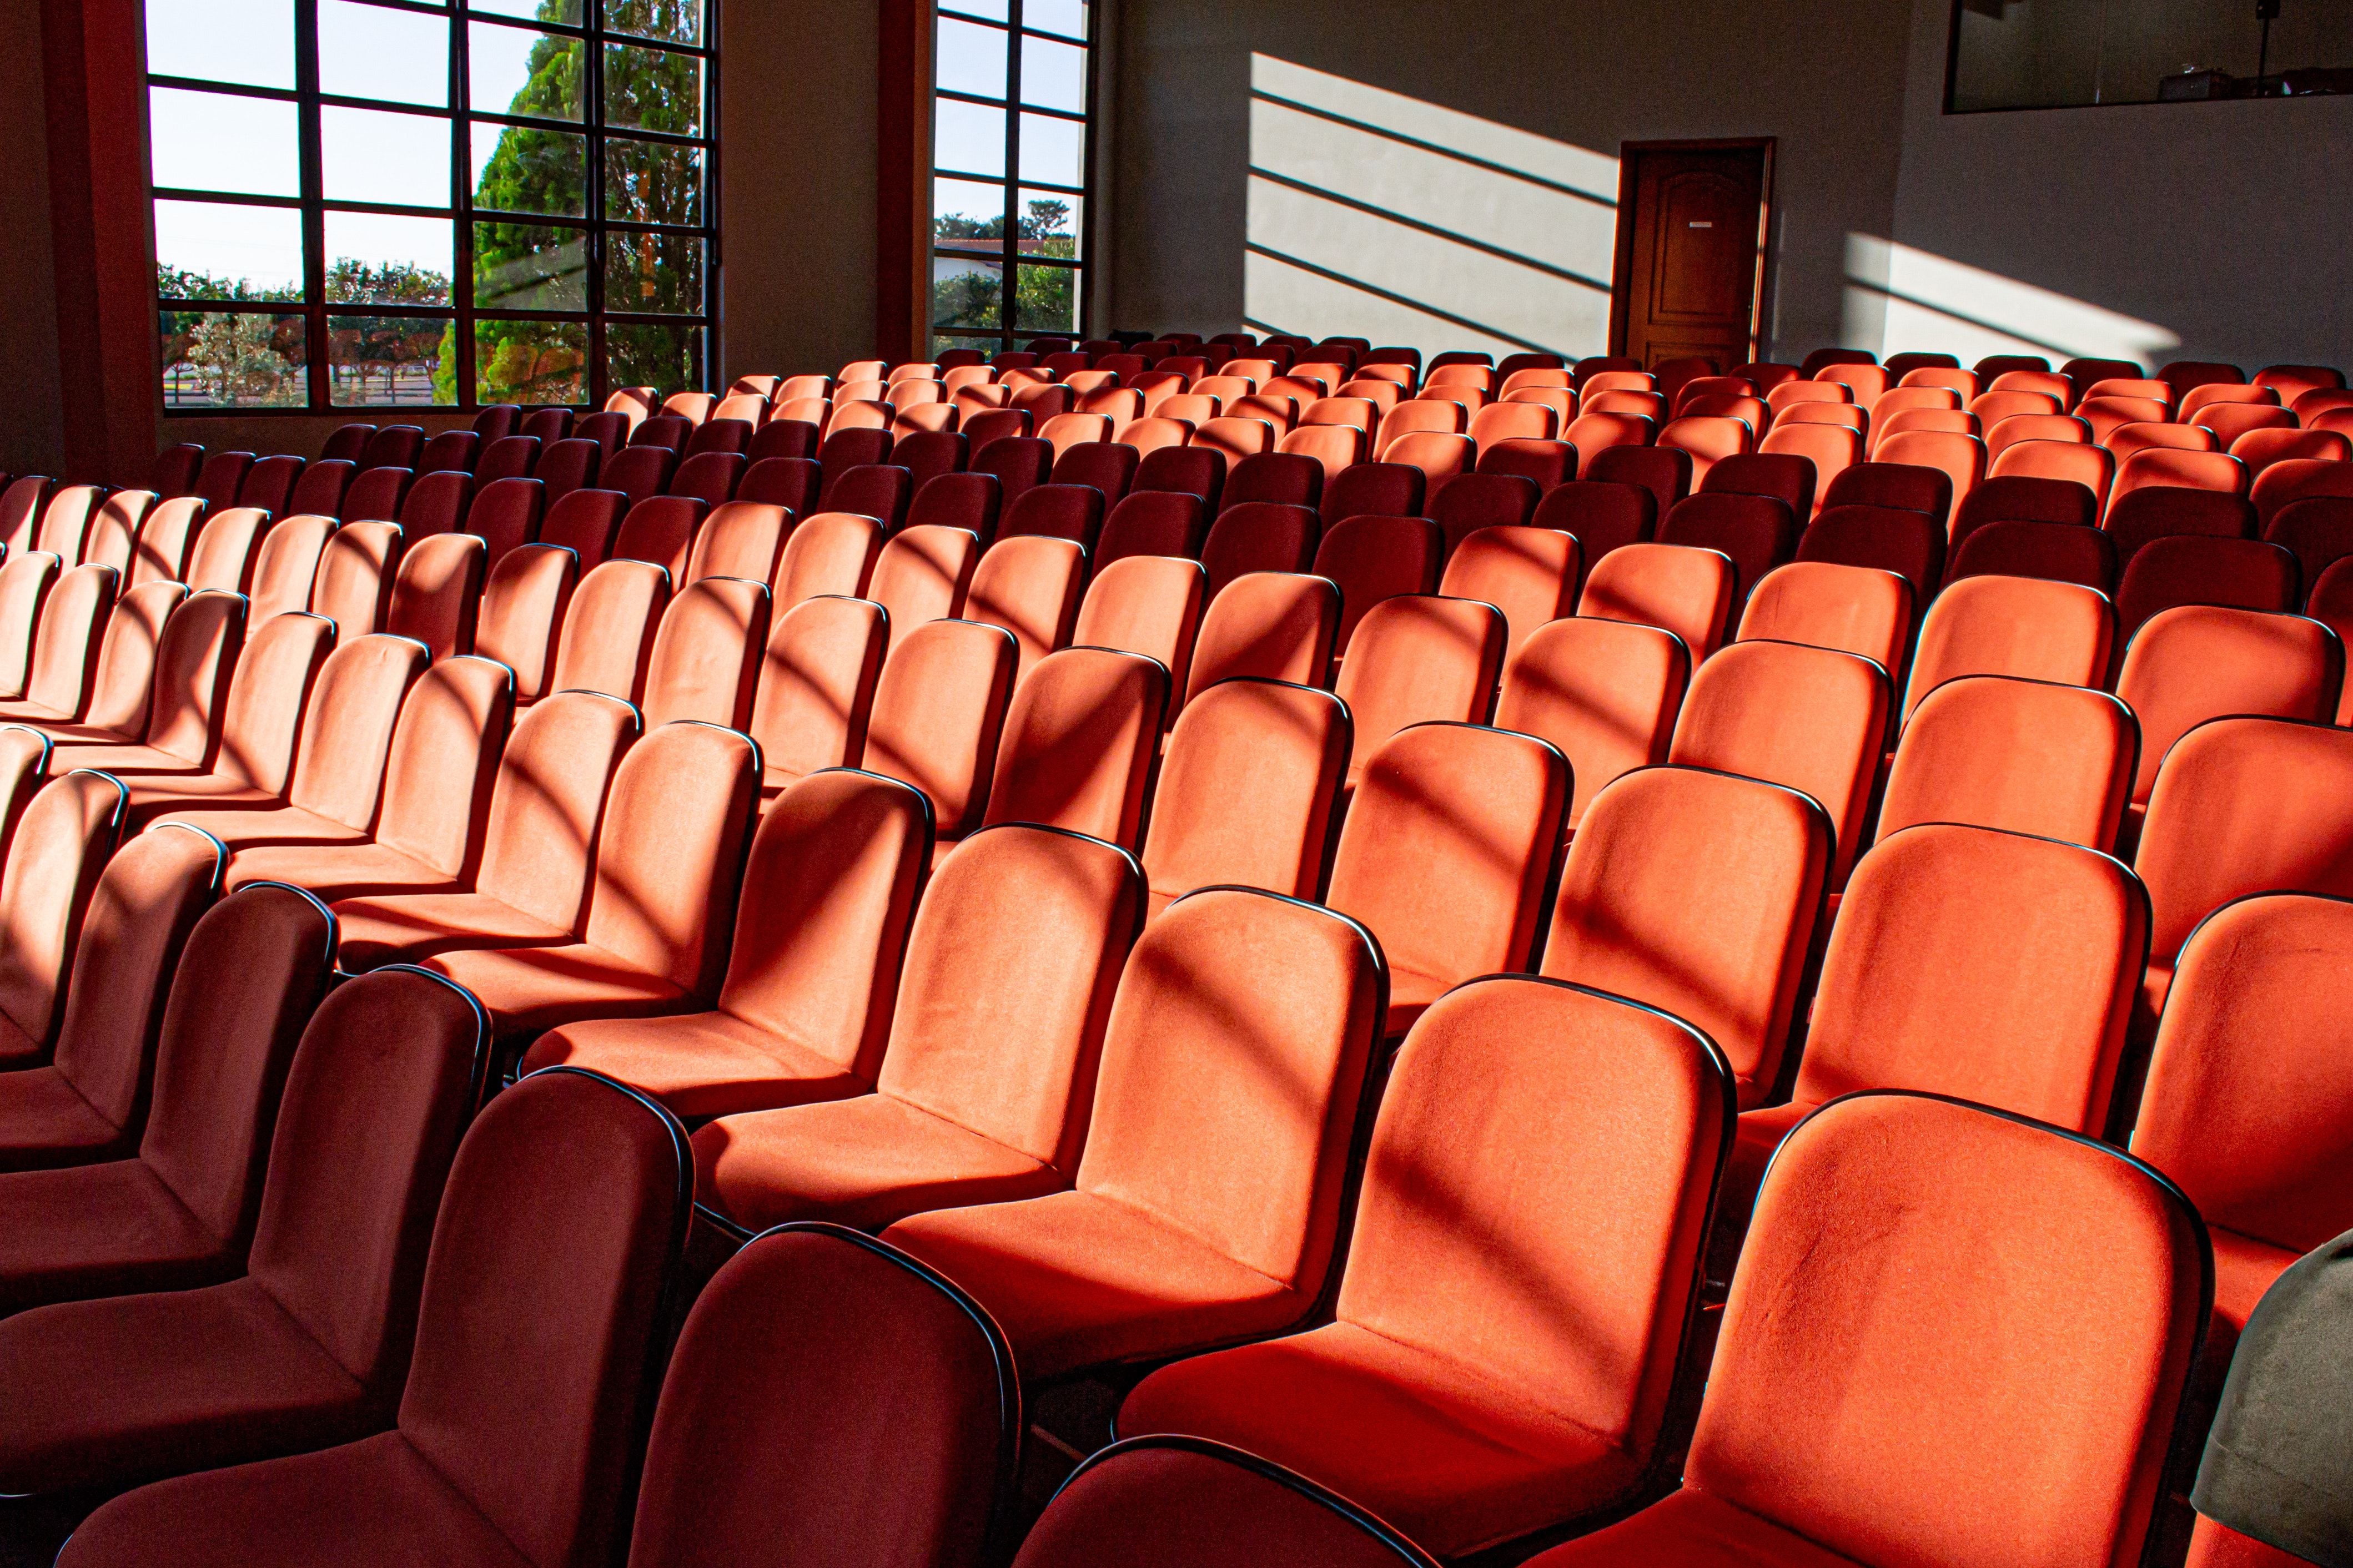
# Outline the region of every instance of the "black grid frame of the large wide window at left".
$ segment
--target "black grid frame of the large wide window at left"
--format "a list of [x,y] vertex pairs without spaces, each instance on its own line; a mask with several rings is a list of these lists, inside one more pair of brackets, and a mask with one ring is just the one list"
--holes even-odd
[[[296,108],[296,134],[299,134],[299,169],[301,169],[301,195],[245,195],[233,190],[191,190],[179,186],[155,186],[153,162],[148,165],[148,212],[153,214],[155,202],[209,202],[224,207],[278,207],[294,209],[301,214],[301,237],[304,237],[304,299],[301,301],[235,301],[235,299],[165,299],[155,280],[151,287],[153,296],[153,320],[158,322],[158,348],[162,343],[162,315],[266,315],[266,317],[301,317],[304,320],[304,369],[306,369],[306,400],[292,407],[268,407],[268,404],[238,404],[238,402],[209,402],[209,404],[179,404],[174,407],[165,397],[165,371],[167,364],[155,367],[155,397],[162,404],[165,418],[247,418],[247,416],[318,416],[318,414],[475,414],[485,404],[478,397],[478,362],[475,362],[475,327],[478,322],[562,322],[579,324],[586,329],[586,364],[584,364],[584,397],[569,404],[534,402],[529,407],[574,407],[595,409],[619,390],[609,378],[609,331],[607,327],[671,327],[701,331],[701,376],[694,386],[664,386],[664,393],[673,390],[708,390],[713,378],[713,350],[718,329],[718,296],[720,296],[720,0],[699,0],[701,19],[701,42],[685,45],[668,38],[645,38],[640,33],[626,33],[607,24],[605,9],[607,0],[581,0],[581,21],[539,21],[536,16],[513,16],[508,12],[475,9],[468,0],[348,0],[353,5],[367,5],[384,12],[402,12],[412,16],[433,16],[449,24],[449,80],[447,101],[435,106],[424,103],[398,103],[381,99],[353,99],[344,94],[329,94],[320,89],[320,59],[318,59],[318,7],[320,0],[289,0],[294,12],[294,87],[254,87],[247,82],[216,82],[207,78],[184,78],[160,71],[146,73],[146,89],[167,87],[176,92],[205,92],[221,96],[242,99],[266,99],[278,103],[294,103]],[[471,35],[475,26],[504,26],[520,33],[546,33],[558,38],[581,40],[581,118],[579,120],[534,120],[529,115],[501,110],[478,110],[471,103]],[[607,45],[626,45],[640,49],[659,49],[671,54],[687,54],[701,61],[701,113],[699,136],[682,136],[673,132],[652,132],[638,127],[607,127],[605,125],[605,49]],[[449,127],[449,207],[405,207],[395,202],[358,202],[358,200],[329,200],[325,195],[325,141],[322,125],[327,108],[355,108],[367,113],[400,113],[426,120],[440,120]],[[584,188],[581,205],[586,212],[579,216],[560,214],[513,214],[496,207],[475,207],[473,190],[473,129],[478,125],[487,127],[525,127],[525,129],[548,129],[560,134],[579,134],[584,141]],[[153,127],[151,127],[153,136]],[[666,146],[687,146],[701,150],[704,179],[701,179],[701,205],[699,223],[633,223],[616,221],[605,214],[605,146],[607,141],[649,141]],[[153,158],[153,153],[151,153]],[[447,219],[452,226],[452,275],[449,275],[449,303],[447,306],[395,306],[395,303],[362,303],[362,301],[327,301],[327,214],[329,212],[358,212],[358,214],[386,214],[386,216],[409,216],[409,219]],[[576,228],[584,242],[584,308],[581,310],[522,310],[522,308],[478,308],[475,306],[475,277],[473,277],[473,252],[475,252],[475,223],[527,223],[548,228]],[[612,310],[605,299],[605,268],[609,256],[607,235],[678,235],[699,240],[704,247],[704,289],[701,308],[694,313],[645,313],[645,310]],[[334,402],[334,374],[332,374],[332,341],[329,320],[332,317],[379,317],[379,320],[431,320],[431,322],[454,322],[454,402]],[[501,402],[501,400],[492,400]]]

